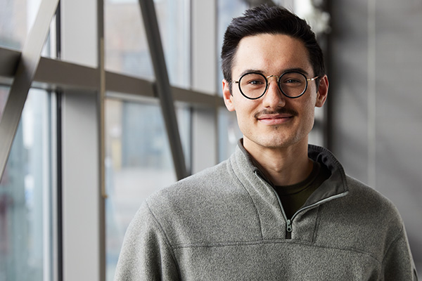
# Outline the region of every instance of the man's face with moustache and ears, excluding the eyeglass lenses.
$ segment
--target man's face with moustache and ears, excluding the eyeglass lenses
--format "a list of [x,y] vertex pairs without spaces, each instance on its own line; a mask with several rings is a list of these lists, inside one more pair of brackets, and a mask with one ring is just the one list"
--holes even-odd
[[[261,72],[268,77],[288,70],[302,72],[308,79],[315,76],[302,41],[284,34],[258,34],[239,42],[231,79],[237,81],[245,72]],[[267,92],[257,100],[242,96],[235,83],[231,95],[229,83],[224,80],[224,102],[230,111],[236,111],[245,148],[307,144],[308,133],[314,126],[314,109],[324,105],[328,91],[328,79],[320,78],[319,89],[315,81],[309,81],[303,96],[287,98],[279,90],[276,77],[271,77]]]

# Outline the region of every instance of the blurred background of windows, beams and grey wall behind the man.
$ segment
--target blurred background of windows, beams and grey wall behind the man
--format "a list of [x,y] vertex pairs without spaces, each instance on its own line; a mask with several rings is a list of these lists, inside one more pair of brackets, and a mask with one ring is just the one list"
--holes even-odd
[[421,274],[422,1],[145,1],[158,30],[138,0],[54,2],[0,0],[0,120],[14,120],[0,123],[0,281],[113,280],[141,202],[229,157],[241,133],[219,51],[231,18],[262,3],[316,32],[330,90],[310,142],[395,203]]

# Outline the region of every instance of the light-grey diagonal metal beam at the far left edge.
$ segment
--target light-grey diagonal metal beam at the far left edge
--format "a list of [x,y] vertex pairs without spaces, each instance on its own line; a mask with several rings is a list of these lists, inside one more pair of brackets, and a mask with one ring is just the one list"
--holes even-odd
[[0,180],[3,177],[4,169],[6,169],[20,115],[22,115],[35,72],[37,72],[42,47],[57,5],[58,0],[41,1],[37,18],[23,46],[18,68],[0,120]]

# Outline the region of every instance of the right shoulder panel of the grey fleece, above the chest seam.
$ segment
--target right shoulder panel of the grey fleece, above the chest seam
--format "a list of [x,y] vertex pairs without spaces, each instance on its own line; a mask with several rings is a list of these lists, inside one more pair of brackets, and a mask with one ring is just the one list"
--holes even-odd
[[369,252],[382,260],[386,249],[403,235],[404,225],[388,198],[357,179],[346,176],[348,194],[321,207],[320,237],[327,244]]

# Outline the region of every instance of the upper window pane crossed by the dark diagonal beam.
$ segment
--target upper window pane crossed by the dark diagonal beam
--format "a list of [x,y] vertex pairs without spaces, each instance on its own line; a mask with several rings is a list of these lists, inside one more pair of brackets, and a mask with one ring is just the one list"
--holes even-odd
[[[155,1],[170,82],[188,86],[188,0]],[[108,0],[105,10],[106,69],[153,79],[153,65],[137,0]]]

